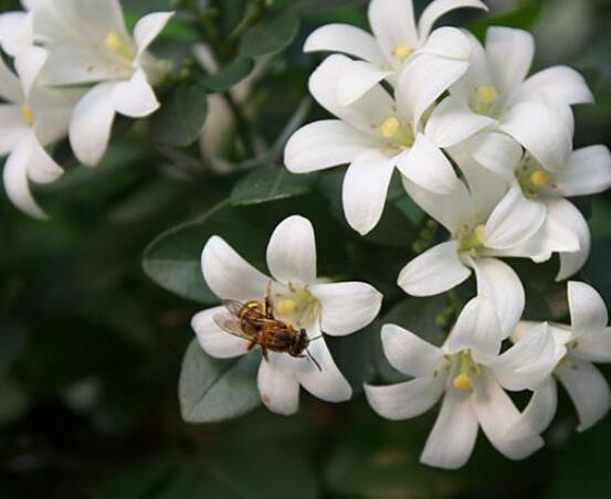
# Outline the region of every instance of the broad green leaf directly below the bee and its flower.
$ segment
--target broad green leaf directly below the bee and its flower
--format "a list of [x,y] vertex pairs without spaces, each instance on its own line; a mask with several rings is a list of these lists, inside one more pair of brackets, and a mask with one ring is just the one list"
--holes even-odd
[[[228,333],[229,335],[229,333]],[[191,341],[178,384],[180,413],[188,423],[214,423],[246,414],[261,404],[256,353],[220,360]]]

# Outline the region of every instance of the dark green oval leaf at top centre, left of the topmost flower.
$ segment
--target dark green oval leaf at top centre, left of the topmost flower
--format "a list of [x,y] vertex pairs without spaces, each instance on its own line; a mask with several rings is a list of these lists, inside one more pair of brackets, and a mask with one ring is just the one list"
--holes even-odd
[[273,55],[286,49],[299,31],[299,18],[287,13],[250,28],[240,41],[243,57]]

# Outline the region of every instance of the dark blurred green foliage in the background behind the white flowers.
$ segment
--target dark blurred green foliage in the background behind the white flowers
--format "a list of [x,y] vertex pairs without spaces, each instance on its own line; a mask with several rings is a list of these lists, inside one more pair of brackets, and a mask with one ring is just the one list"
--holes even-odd
[[[145,123],[119,120],[99,168],[77,167],[65,145],[56,147],[55,156],[74,168],[38,192],[51,222],[27,219],[0,194],[2,499],[611,496],[611,420],[571,434],[576,417],[566,400],[546,450],[515,464],[481,438],[465,469],[445,473],[418,463],[434,414],[387,422],[359,394],[362,382],[399,376],[381,352],[382,323],[439,343],[457,304],[473,294],[472,280],[454,296],[431,299],[407,298],[397,288],[402,265],[442,236],[397,185],[380,226],[359,237],[339,205],[341,169],[299,177],[282,168],[291,132],[325,116],[304,99],[320,60],[302,53],[306,34],[326,22],[366,25],[366,3],[123,2],[131,25],[143,13],[180,9],[155,45],[176,68],[160,88],[161,110]],[[417,10],[425,4],[415,3]],[[509,13],[460,12],[449,22],[482,35],[491,23],[537,28],[544,7],[561,9],[560,0],[518,3]],[[599,98],[578,113],[578,146],[611,144],[611,9],[604,1],[591,6],[586,45],[566,61],[586,71]],[[2,11],[18,7],[0,1]],[[190,44],[198,41],[215,52],[219,71],[193,60]],[[539,46],[542,56],[545,50]],[[210,150],[199,136],[215,127],[228,139]],[[581,278],[611,302],[611,198],[598,197],[588,213],[594,245]],[[356,399],[331,405],[303,393],[299,415],[283,418],[239,396],[240,390],[252,394],[250,367],[206,358],[189,323],[218,302],[200,272],[206,240],[221,235],[265,270],[270,233],[291,214],[315,221],[323,275],[370,282],[386,300],[375,325],[329,340]],[[512,265],[526,284],[527,316],[565,319],[565,288],[552,280],[558,263]],[[199,405],[227,386],[235,390],[231,414],[247,415],[219,424],[182,421],[180,403],[188,421],[227,416]]]

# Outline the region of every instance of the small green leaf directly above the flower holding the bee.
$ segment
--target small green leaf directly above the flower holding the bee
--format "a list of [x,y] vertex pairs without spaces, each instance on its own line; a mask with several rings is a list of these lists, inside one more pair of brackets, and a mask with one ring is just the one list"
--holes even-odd
[[316,179],[316,173],[295,174],[274,164],[260,167],[235,184],[231,204],[260,204],[307,194]]

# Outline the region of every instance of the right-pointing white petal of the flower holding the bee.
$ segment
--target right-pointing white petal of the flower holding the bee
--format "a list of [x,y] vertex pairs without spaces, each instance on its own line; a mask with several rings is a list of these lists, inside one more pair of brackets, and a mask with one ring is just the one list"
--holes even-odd
[[366,283],[330,283],[310,286],[320,302],[320,327],[327,335],[359,331],[380,312],[382,294]]

